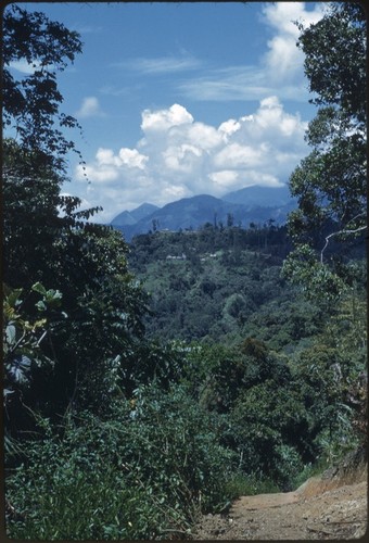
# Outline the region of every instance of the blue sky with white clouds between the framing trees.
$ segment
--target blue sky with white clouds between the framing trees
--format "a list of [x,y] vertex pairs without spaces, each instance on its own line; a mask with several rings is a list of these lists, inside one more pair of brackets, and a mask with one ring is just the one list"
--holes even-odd
[[[21,4],[21,3],[20,3]],[[59,76],[90,182],[71,156],[65,193],[110,222],[143,202],[288,181],[308,153],[298,30],[323,2],[27,3],[78,30]],[[14,65],[21,73],[29,70]]]

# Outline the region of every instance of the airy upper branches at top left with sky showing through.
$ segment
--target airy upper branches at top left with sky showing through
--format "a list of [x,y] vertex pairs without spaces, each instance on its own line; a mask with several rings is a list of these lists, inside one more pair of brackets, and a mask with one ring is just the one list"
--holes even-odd
[[[65,154],[75,149],[65,128],[79,127],[76,118],[60,111],[63,102],[56,73],[74,62],[82,43],[76,31],[50,21],[43,13],[9,5],[3,14],[3,121],[22,147],[38,151],[58,171],[65,167]],[[12,64],[25,63],[29,74],[15,79]],[[56,127],[55,127],[56,123]],[[59,126],[58,126],[59,125]]]

